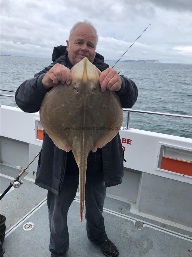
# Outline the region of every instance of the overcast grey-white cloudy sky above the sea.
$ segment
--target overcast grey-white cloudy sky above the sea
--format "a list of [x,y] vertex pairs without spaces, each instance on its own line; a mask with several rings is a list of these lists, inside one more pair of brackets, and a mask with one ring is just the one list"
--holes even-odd
[[122,60],[192,63],[191,0],[2,0],[1,54],[50,58],[84,19],[106,60],[119,59],[151,24]]

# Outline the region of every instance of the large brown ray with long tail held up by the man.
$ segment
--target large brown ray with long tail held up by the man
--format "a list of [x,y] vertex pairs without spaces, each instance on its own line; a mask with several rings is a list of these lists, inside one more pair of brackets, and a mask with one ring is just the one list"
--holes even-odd
[[70,85],[58,84],[46,93],[40,121],[54,144],[72,150],[79,166],[80,220],[83,220],[87,156],[119,132],[123,110],[115,92],[100,90],[100,71],[84,58],[71,69]]

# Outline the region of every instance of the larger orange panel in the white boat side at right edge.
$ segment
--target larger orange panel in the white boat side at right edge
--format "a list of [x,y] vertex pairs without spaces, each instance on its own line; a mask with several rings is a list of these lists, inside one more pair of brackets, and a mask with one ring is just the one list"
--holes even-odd
[[161,169],[192,176],[192,162],[163,156]]

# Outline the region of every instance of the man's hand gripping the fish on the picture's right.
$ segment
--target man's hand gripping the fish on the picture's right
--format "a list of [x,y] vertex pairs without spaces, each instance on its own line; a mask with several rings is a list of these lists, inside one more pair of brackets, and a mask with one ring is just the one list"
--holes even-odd
[[106,89],[111,91],[119,91],[121,89],[121,78],[117,71],[112,68],[107,68],[100,74],[99,83],[102,92]]

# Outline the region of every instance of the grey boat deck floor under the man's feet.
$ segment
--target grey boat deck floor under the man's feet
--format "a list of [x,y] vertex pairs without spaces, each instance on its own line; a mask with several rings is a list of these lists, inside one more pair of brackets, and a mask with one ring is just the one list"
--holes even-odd
[[[1,193],[20,170],[1,164]],[[6,216],[4,257],[48,257],[49,224],[46,204],[47,190],[39,188],[34,180],[21,177],[23,184],[11,189],[1,200],[1,214]],[[104,218],[106,233],[119,250],[119,257],[188,257],[192,256],[192,231],[161,223],[130,212],[131,204],[106,197]],[[24,230],[32,222],[34,228]],[[177,224],[176,224],[177,225]],[[141,229],[138,229],[141,226]],[[79,219],[78,193],[68,212],[70,246],[66,257],[104,256],[100,248],[86,236],[86,220]]]

